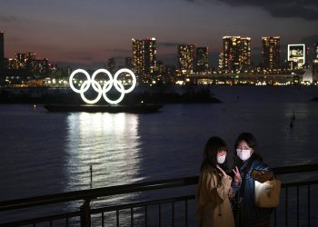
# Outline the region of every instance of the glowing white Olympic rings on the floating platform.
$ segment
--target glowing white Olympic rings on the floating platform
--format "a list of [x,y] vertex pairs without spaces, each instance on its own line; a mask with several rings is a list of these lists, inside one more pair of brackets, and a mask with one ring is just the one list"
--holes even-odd
[[[104,73],[107,75],[107,80],[104,83],[103,87],[101,84],[99,84],[96,80],[95,77],[97,74],[100,73]],[[130,74],[133,77],[133,83],[131,85],[131,87],[129,89],[124,89],[124,85],[122,84],[121,81],[118,81],[117,78],[119,76],[119,74],[123,74],[123,73],[127,73]],[[84,74],[86,76],[86,80],[84,81],[84,83],[81,85],[81,87],[79,89],[75,88],[75,85],[73,84],[73,80],[75,77],[75,74]],[[120,69],[118,70],[115,74],[114,74],[114,78],[112,76],[111,73],[109,73],[108,70],[106,69],[97,69],[94,74],[92,75],[92,78],[90,77],[90,75],[84,70],[84,69],[76,69],[69,78],[69,84],[71,89],[75,92],[75,93],[79,93],[81,94],[81,97],[83,99],[83,101],[86,104],[95,104],[97,103],[102,95],[104,97],[104,100],[109,103],[109,104],[119,104],[123,99],[124,99],[124,94],[128,94],[130,92],[132,92],[134,90],[135,85],[137,84],[137,80],[136,77],[133,73],[133,71],[131,71],[130,69]],[[97,94],[97,97],[94,100],[89,100],[85,97],[84,93],[88,91],[88,89],[91,87],[93,87],[94,91]],[[116,100],[111,100],[107,97],[107,93],[112,89],[114,85],[114,88],[121,94],[119,96],[118,99]]]

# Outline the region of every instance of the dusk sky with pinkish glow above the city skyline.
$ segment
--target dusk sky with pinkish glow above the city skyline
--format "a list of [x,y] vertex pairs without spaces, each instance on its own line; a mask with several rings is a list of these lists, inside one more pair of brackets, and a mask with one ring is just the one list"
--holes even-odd
[[209,46],[217,64],[224,35],[252,37],[255,64],[261,37],[287,44],[318,42],[317,0],[1,0],[5,57],[34,52],[53,63],[103,65],[132,56],[132,38],[155,37],[157,59],[176,64],[177,44]]

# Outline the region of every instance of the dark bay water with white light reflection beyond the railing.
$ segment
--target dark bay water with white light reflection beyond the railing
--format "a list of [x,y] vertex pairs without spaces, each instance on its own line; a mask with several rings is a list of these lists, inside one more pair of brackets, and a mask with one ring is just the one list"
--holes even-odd
[[212,89],[224,104],[165,104],[158,114],[0,105],[0,201],[89,189],[90,165],[94,188],[197,175],[210,136],[233,153],[245,131],[272,167],[318,163],[317,87]]

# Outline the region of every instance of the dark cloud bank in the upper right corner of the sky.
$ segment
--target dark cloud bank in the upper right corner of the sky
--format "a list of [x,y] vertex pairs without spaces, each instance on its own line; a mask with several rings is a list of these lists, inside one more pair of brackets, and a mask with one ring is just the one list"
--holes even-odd
[[262,8],[273,17],[302,18],[307,21],[318,20],[317,0],[184,0],[186,2],[214,4],[223,3],[234,7],[252,6]]

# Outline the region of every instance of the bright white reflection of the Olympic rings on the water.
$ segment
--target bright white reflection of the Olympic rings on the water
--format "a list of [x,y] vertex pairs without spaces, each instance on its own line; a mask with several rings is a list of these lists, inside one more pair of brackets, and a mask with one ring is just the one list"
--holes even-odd
[[137,114],[87,114],[67,116],[66,191],[135,182],[140,163]]

